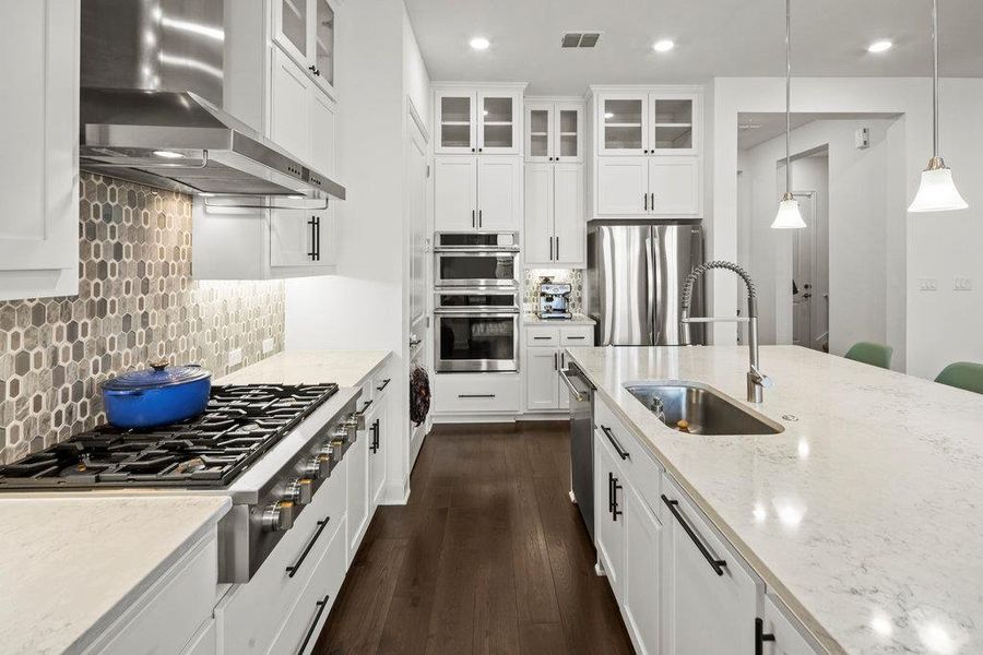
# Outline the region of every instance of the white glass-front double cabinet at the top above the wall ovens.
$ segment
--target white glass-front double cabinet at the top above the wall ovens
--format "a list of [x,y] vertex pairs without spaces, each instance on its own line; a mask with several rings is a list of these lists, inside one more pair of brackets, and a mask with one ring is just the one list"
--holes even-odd
[[519,154],[522,85],[438,87],[437,154]]

